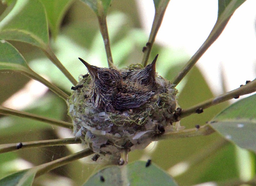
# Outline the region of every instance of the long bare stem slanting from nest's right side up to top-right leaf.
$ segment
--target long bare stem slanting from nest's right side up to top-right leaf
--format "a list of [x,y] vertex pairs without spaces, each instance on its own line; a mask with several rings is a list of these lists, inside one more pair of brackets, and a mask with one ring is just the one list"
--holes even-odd
[[[231,15],[232,16],[232,15]],[[174,85],[178,85],[180,81],[186,76],[186,74],[190,71],[190,69],[196,64],[198,59],[203,56],[204,52],[212,45],[214,41],[220,36],[222,31],[224,30],[225,26],[227,25],[229,19],[231,18],[229,16],[228,19],[224,21],[219,21],[217,19],[217,22],[212,28],[212,31],[208,38],[204,41],[203,45],[196,51],[196,53],[190,58],[188,63],[183,67],[183,69],[180,71],[180,73],[172,80],[172,83]]]

